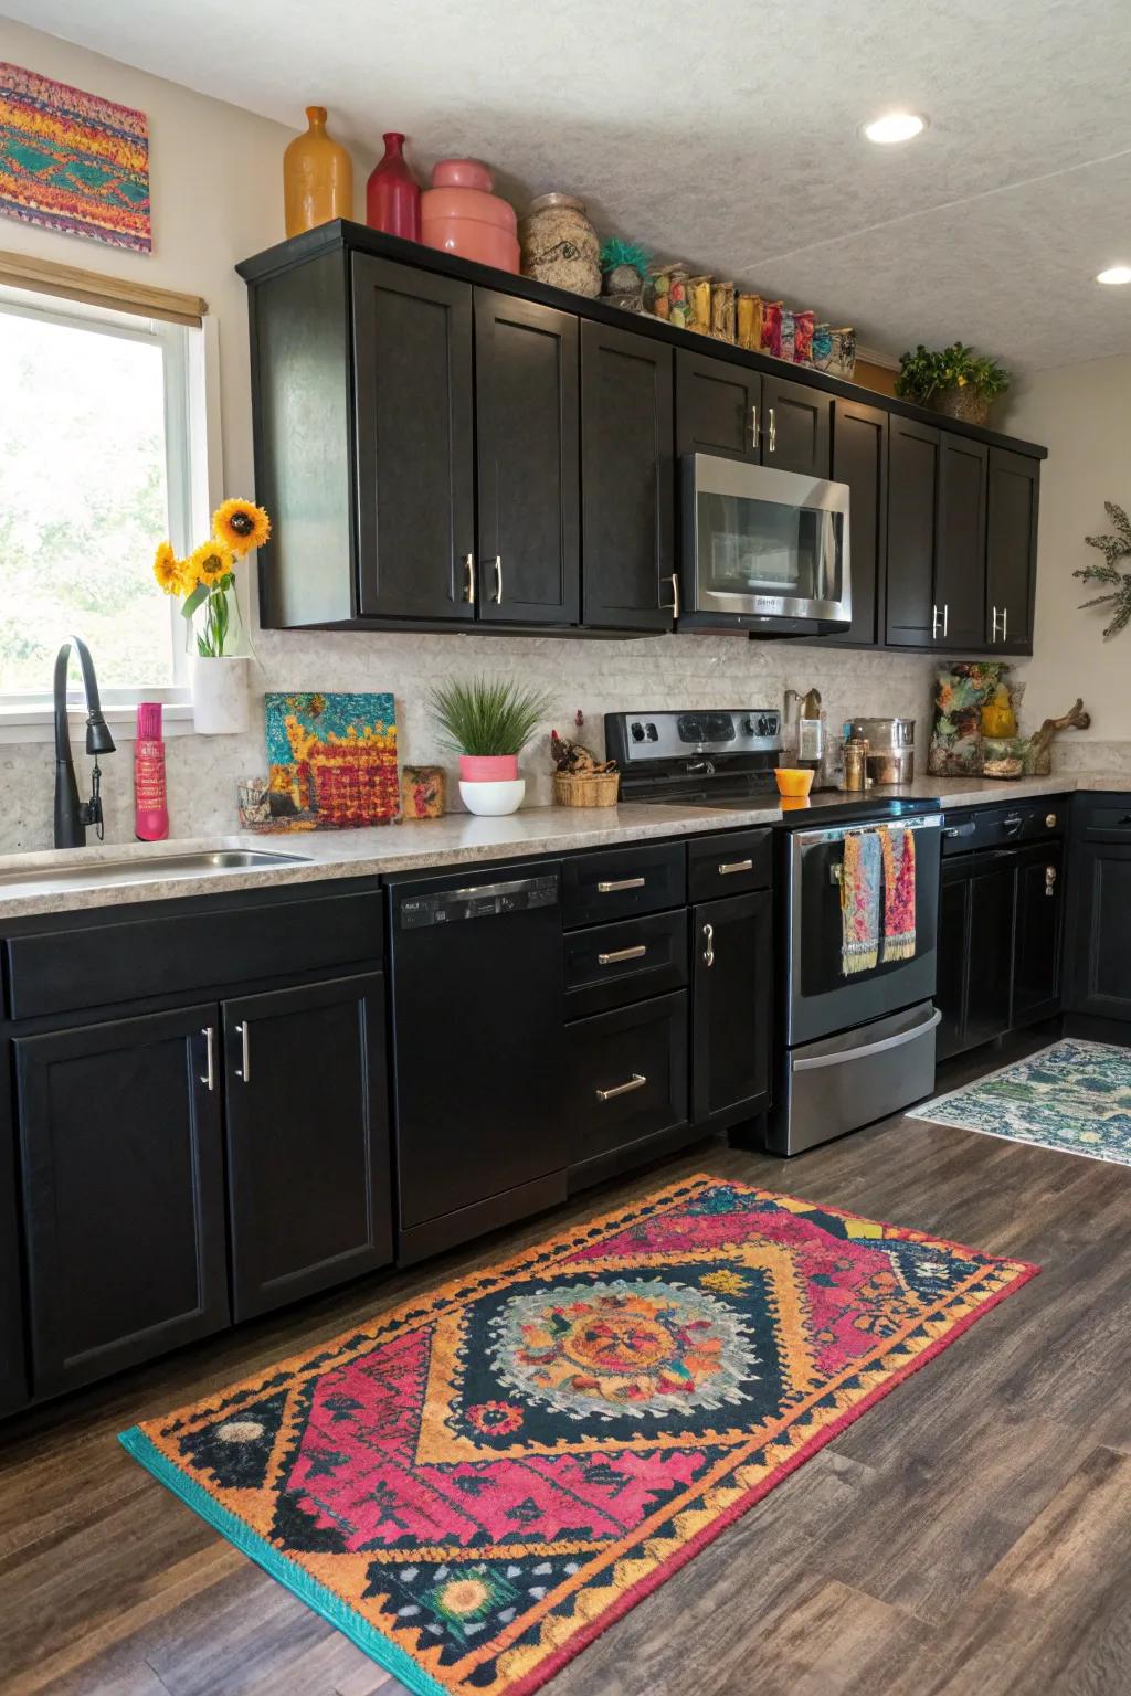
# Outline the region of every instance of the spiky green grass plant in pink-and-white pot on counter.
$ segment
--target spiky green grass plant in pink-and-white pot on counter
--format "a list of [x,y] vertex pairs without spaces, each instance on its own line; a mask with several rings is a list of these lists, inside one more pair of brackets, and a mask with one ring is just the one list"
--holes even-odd
[[526,795],[519,755],[549,709],[549,697],[487,677],[434,689],[431,709],[441,746],[460,755],[460,797],[468,812],[499,817]]

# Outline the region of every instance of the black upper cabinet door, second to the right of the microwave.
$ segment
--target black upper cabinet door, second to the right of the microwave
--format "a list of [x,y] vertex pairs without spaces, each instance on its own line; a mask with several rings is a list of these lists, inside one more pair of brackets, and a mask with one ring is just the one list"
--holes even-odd
[[924,648],[941,621],[934,611],[941,434],[895,417],[887,453],[887,643]]

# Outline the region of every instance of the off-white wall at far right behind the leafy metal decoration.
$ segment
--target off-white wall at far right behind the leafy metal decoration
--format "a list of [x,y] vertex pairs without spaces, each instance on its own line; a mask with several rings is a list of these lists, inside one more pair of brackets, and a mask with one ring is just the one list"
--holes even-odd
[[1104,500],[1131,509],[1131,358],[1041,371],[1016,397],[1009,432],[1048,446],[1024,722],[1060,717],[1084,695],[1092,728],[1067,731],[1056,746],[1061,763],[1097,767],[1097,743],[1131,743],[1131,628],[1104,641],[1107,609],[1078,611],[1102,589],[1072,573],[1102,560],[1084,538],[1111,531]]

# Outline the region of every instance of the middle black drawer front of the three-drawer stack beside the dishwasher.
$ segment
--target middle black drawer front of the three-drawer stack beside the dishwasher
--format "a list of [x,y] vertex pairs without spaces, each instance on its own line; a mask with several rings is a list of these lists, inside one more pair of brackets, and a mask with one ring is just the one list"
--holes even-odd
[[687,984],[687,912],[653,912],[566,936],[566,1019]]

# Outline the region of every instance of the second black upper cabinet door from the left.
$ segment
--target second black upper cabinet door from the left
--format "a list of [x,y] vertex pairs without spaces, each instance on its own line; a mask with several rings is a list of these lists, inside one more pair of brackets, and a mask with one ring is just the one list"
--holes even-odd
[[475,290],[478,607],[492,624],[580,614],[577,319]]

